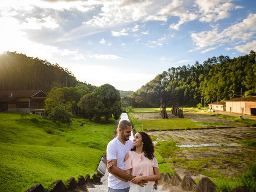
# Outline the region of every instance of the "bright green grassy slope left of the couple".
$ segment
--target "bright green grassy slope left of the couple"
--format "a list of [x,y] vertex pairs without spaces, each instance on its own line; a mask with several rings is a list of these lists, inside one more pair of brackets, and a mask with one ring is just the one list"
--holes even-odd
[[[84,126],[79,126],[85,122]],[[96,173],[116,121],[96,124],[73,119],[70,126],[45,117],[0,113],[0,191],[26,191],[41,183]]]

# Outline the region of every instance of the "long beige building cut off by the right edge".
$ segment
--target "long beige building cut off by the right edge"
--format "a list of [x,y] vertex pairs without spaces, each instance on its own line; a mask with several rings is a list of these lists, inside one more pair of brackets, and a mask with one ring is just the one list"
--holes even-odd
[[226,101],[226,111],[246,115],[256,115],[256,96],[235,98]]

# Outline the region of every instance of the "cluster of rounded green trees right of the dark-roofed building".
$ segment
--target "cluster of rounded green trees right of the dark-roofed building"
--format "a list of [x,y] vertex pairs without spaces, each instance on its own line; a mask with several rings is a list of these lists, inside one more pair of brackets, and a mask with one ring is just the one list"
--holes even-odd
[[95,122],[104,117],[118,120],[122,113],[120,93],[104,84],[87,90],[85,86],[52,88],[45,100],[45,112],[51,120],[70,124],[72,117],[89,118]]

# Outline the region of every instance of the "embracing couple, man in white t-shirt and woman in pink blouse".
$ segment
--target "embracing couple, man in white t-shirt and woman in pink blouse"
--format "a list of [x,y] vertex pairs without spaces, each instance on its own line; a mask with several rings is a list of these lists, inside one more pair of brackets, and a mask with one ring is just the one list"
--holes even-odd
[[160,172],[154,145],[146,132],[130,140],[132,124],[122,120],[118,136],[107,146],[108,192],[154,192]]

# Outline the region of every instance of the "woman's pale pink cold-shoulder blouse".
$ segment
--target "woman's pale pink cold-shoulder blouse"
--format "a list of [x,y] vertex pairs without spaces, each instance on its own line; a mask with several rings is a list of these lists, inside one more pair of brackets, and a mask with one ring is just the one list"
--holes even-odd
[[[138,154],[134,151],[129,151],[129,158],[124,162],[124,170],[132,168],[131,175],[143,175],[150,176],[154,175],[153,167],[158,168],[157,159],[154,157],[153,159],[149,159],[144,156],[144,153]],[[148,184],[153,183],[149,181]]]

